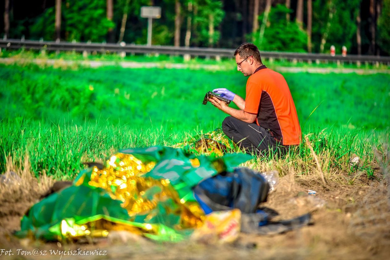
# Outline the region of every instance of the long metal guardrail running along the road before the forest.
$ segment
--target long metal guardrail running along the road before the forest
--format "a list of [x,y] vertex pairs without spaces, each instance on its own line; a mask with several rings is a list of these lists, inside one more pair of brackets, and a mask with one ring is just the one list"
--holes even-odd
[[[174,46],[146,46],[135,44],[89,43],[89,42],[54,42],[54,41],[30,41],[19,39],[0,40],[0,48],[48,51],[78,51],[78,52],[118,52],[118,53],[159,53],[168,55],[191,55],[201,57],[229,57],[232,58],[235,49],[200,48],[200,47],[174,47]],[[390,65],[390,57],[373,55],[342,55],[330,56],[319,53],[292,53],[261,51],[262,58],[293,60],[293,61],[337,61],[337,62],[372,62]]]

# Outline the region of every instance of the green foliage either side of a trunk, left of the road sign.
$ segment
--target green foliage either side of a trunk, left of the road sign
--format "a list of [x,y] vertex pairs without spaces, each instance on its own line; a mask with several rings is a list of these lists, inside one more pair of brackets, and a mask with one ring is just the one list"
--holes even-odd
[[[61,30],[65,32],[66,41],[101,42],[105,39],[108,29],[114,26],[114,23],[106,18],[105,0],[66,0],[62,3],[61,11]],[[31,28],[32,35],[53,39],[54,22],[55,7],[51,7],[37,18]]]

